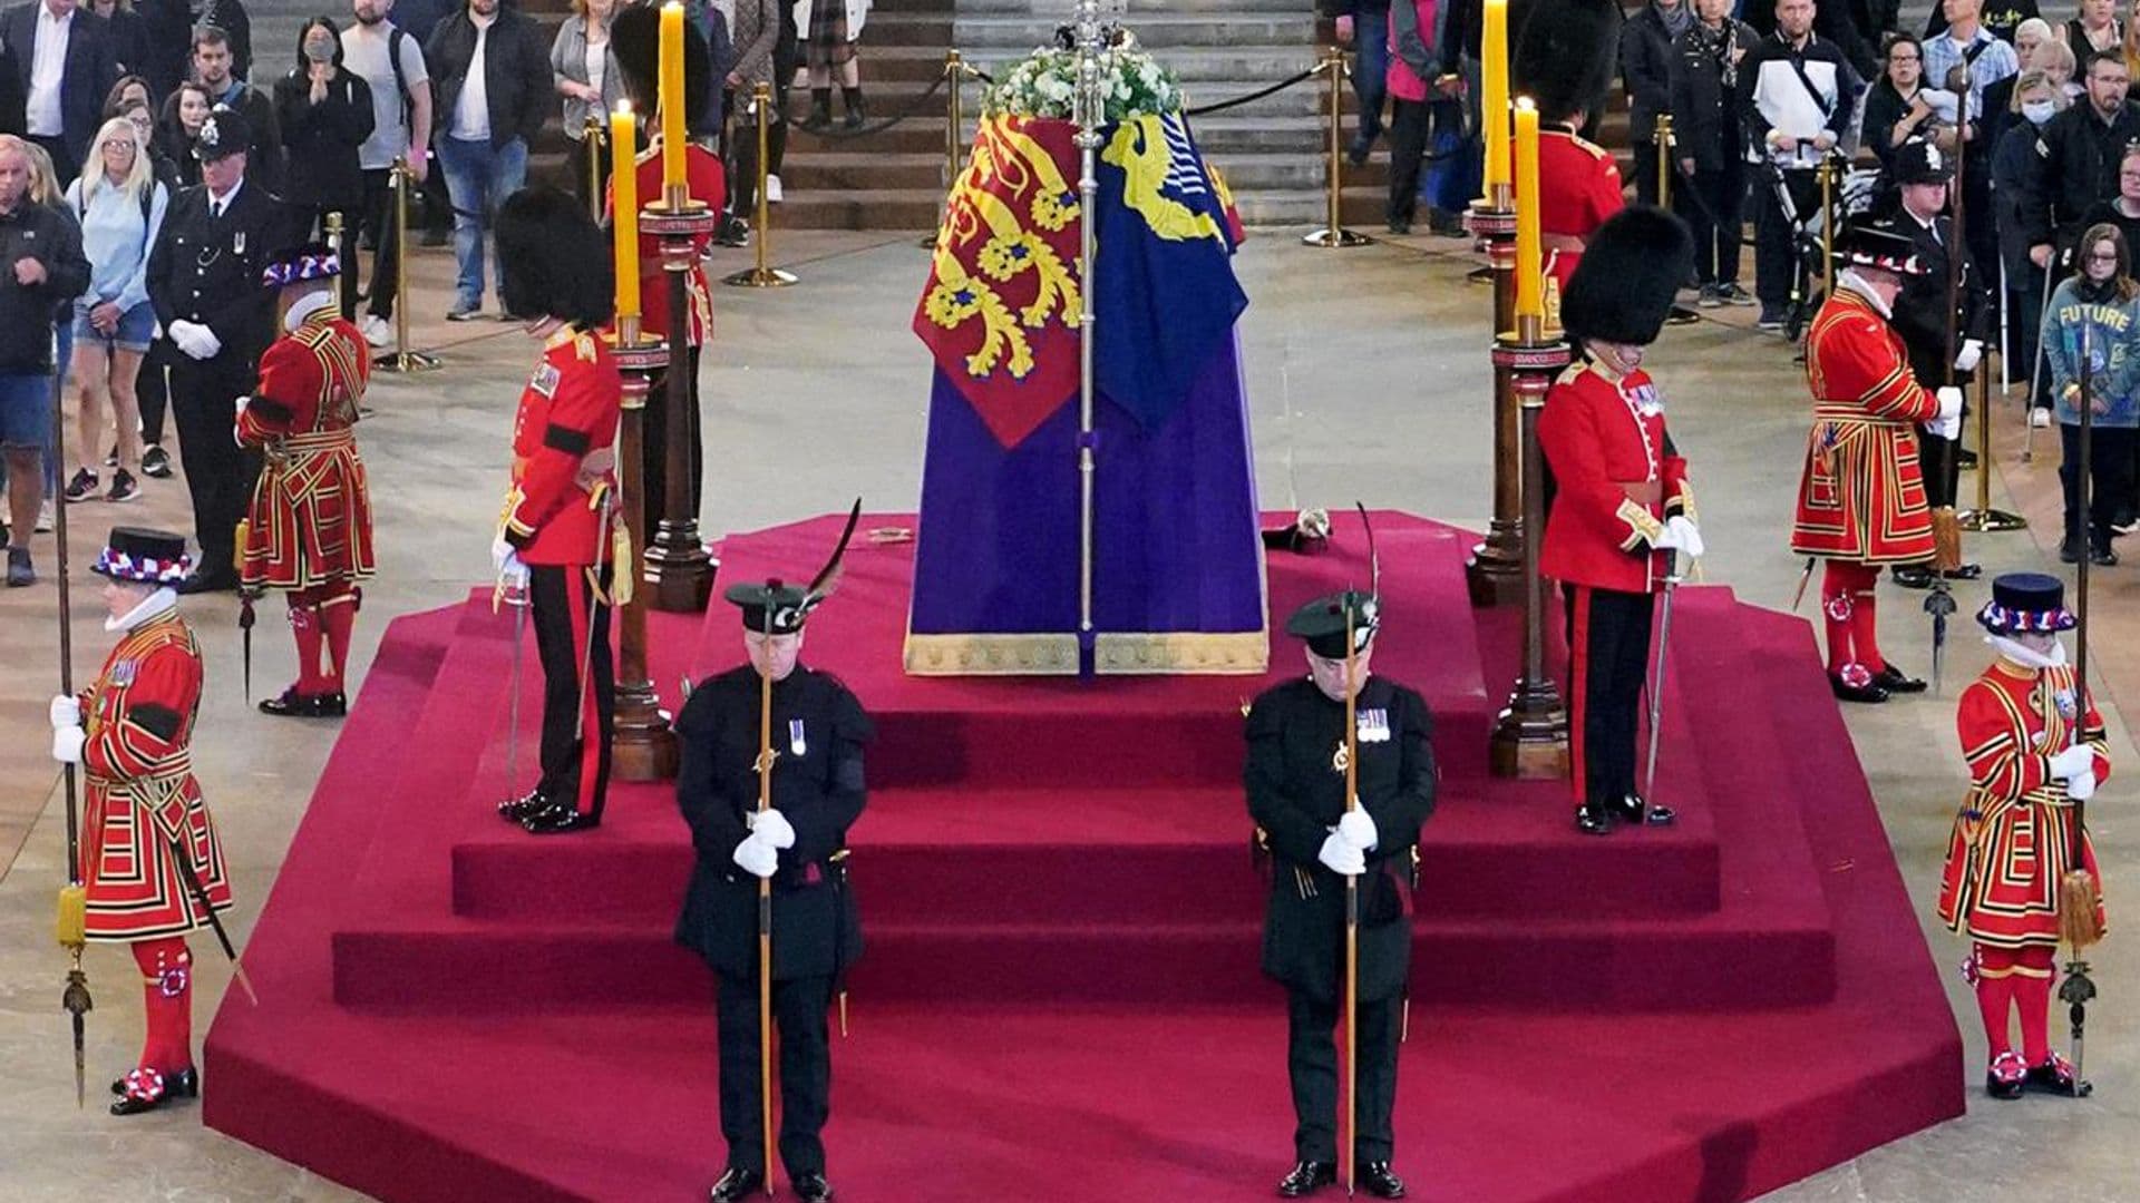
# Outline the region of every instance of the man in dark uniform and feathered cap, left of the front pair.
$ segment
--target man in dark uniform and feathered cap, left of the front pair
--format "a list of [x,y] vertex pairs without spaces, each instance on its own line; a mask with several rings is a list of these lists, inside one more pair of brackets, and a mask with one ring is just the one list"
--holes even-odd
[[[837,561],[837,557],[835,557]],[[847,890],[847,828],[862,813],[862,704],[828,672],[798,664],[817,591],[732,584],[749,664],[706,679],[676,717],[676,805],[698,867],[676,942],[721,978],[721,1137],[728,1169],[715,1203],[764,1188],[758,1081],[758,882],[773,880],[773,1021],[779,1025],[781,1162],[796,1197],[832,1197],[824,1120],[832,1060],[826,1010],[862,953]],[[758,811],[760,689],[773,679],[773,807]]]

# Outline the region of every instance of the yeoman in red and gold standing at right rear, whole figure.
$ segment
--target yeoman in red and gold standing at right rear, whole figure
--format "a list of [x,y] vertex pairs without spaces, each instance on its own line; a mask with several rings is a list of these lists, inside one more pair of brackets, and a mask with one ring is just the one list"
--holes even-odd
[[1952,432],[1962,394],[1926,390],[1890,325],[1902,278],[1924,274],[1911,240],[1892,220],[1855,223],[1836,242],[1836,287],[1806,332],[1813,435],[1791,550],[1828,561],[1821,612],[1836,698],[1885,702],[1924,681],[1881,655],[1872,587],[1883,565],[1932,557],[1917,424]]

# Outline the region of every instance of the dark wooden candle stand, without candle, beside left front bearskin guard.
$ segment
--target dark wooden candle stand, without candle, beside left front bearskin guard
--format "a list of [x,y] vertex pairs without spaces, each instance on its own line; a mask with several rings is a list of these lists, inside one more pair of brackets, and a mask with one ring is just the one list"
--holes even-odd
[[[670,362],[666,342],[640,334],[638,315],[616,319],[616,370],[625,383],[616,424],[616,490],[631,531],[631,554],[646,546],[646,394]],[[614,574],[638,574],[638,563],[612,565]],[[646,672],[646,597],[616,608],[616,715],[610,753],[618,781],[668,781],[676,775],[676,732],[670,730],[655,683]]]

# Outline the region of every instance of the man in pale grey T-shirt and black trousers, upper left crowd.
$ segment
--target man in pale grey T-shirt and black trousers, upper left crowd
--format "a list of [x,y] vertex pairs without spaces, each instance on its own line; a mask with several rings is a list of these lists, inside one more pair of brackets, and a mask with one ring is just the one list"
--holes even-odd
[[[372,347],[394,342],[394,295],[400,291],[394,244],[394,161],[409,163],[411,184],[430,173],[430,73],[415,39],[387,19],[394,0],[351,0],[355,24],[342,30],[342,66],[360,75],[372,90],[372,137],[357,148],[364,169],[362,229],[377,246],[372,255],[372,291],[368,313],[360,323]],[[345,255],[345,270],[355,272],[355,255]]]

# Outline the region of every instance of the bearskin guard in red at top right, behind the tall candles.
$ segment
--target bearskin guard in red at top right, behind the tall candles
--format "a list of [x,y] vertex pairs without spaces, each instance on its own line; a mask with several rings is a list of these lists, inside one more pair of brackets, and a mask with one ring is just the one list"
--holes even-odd
[[1616,0],[1532,0],[1511,13],[1517,30],[1511,90],[1539,105],[1539,231],[1543,233],[1545,323],[1560,325],[1560,300],[1584,246],[1626,205],[1611,152],[1575,131],[1605,111],[1620,66]]

